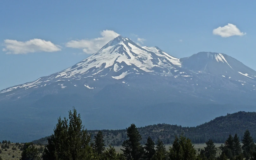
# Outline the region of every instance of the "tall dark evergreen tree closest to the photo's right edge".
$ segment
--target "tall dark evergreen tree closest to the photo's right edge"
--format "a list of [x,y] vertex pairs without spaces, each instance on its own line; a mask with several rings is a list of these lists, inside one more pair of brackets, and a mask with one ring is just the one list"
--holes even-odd
[[248,159],[251,156],[251,154],[254,152],[253,138],[249,130],[245,131],[245,134],[242,139],[242,143],[243,143],[242,149],[244,150],[245,157]]

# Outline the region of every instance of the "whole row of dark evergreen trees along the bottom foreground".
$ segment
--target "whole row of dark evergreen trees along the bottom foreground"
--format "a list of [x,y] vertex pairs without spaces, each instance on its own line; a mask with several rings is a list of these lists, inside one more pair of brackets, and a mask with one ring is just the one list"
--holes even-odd
[[32,143],[25,143],[21,160],[256,160],[255,144],[248,130],[244,133],[242,145],[237,134],[234,137],[229,135],[225,144],[220,146],[219,157],[216,157],[217,147],[213,140],[208,140],[206,147],[197,153],[191,139],[184,134],[175,136],[168,150],[162,140],[158,138],[155,144],[150,136],[142,145],[142,136],[134,124],[127,128],[121,149],[123,153],[117,153],[111,145],[105,148],[103,137],[103,132],[98,131],[91,143],[91,135],[82,125],[80,114],[73,108],[68,118],[58,118],[42,156]]

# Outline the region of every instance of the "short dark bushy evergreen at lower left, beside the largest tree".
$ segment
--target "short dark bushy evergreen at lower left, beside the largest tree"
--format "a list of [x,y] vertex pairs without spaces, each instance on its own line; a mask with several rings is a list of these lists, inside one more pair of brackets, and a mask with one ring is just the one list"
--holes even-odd
[[41,160],[38,149],[32,143],[25,143],[20,160]]

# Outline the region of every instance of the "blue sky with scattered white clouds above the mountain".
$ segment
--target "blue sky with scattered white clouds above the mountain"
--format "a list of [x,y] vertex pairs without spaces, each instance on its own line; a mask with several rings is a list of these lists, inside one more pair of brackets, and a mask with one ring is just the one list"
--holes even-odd
[[225,53],[256,70],[256,1],[246,2],[0,1],[0,90],[70,67],[118,34],[178,58]]

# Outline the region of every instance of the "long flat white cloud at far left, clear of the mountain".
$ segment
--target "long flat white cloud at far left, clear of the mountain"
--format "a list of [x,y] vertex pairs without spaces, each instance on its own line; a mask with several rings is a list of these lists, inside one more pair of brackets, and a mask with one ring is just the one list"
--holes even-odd
[[3,51],[7,54],[27,54],[34,52],[55,52],[60,51],[61,47],[50,41],[42,39],[32,39],[26,42],[6,39],[3,42]]

